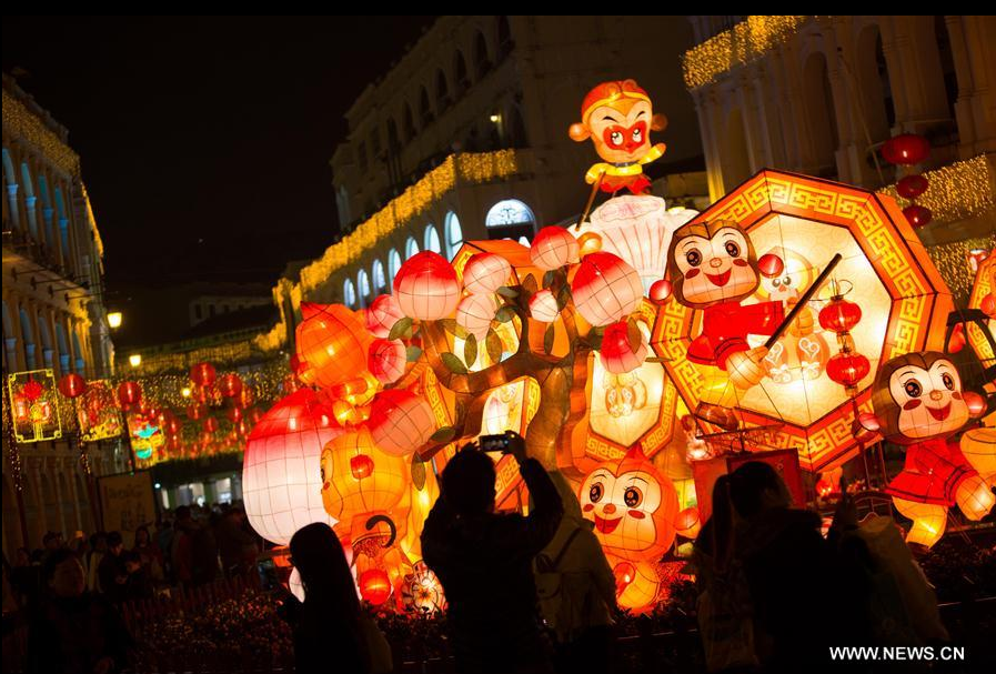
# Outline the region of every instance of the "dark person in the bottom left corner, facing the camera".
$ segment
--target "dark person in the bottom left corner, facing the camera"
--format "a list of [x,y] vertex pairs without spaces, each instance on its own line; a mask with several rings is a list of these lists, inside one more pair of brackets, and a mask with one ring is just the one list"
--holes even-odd
[[128,630],[107,600],[85,592],[76,555],[54,551],[42,577],[48,596],[28,628],[29,674],[109,674],[124,667]]

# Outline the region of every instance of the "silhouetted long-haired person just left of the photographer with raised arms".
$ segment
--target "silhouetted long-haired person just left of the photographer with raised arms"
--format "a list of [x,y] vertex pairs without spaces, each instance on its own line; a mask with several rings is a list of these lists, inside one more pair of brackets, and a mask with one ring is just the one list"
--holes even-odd
[[316,522],[291,539],[291,560],[304,585],[304,602],[288,596],[298,674],[370,671],[360,601],[342,544]]

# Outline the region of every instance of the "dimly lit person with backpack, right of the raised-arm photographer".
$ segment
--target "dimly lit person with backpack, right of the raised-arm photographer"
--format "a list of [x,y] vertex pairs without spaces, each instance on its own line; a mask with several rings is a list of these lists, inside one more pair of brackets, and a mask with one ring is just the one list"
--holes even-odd
[[557,672],[612,671],[615,576],[594,523],[581,515],[577,495],[560,471],[550,473],[564,516],[533,570],[540,612],[555,646]]

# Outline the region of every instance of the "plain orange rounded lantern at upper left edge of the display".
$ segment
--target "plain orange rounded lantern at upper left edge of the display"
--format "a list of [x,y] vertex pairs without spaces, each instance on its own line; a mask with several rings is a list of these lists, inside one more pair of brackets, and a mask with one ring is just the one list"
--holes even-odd
[[301,304],[298,353],[308,362],[305,383],[323,389],[351,381],[366,370],[370,334],[360,319],[341,304]]

